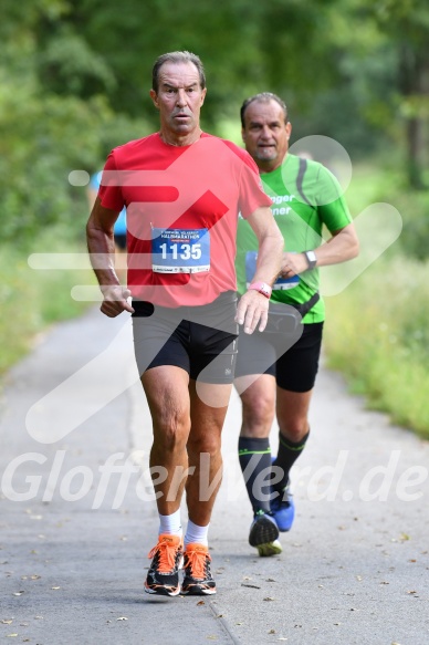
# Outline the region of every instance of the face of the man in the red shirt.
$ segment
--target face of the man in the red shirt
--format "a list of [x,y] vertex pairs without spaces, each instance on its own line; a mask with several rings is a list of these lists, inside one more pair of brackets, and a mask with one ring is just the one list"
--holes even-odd
[[158,93],[151,90],[150,96],[159,110],[161,132],[174,138],[198,131],[206,89],[201,89],[195,64],[164,63],[159,69],[158,82]]

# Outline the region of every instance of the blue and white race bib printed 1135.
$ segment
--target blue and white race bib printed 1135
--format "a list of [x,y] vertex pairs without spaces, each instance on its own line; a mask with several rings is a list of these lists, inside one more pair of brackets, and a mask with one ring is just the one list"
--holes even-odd
[[198,273],[210,269],[210,233],[201,229],[151,229],[155,273]]

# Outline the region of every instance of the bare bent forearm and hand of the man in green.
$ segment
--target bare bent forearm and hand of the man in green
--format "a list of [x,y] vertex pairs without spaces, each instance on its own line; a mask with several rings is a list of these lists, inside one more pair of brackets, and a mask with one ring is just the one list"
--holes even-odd
[[[355,226],[353,223],[333,231],[332,238],[317,249],[307,249],[315,252],[317,267],[328,264],[339,264],[356,258],[359,252],[359,241],[357,239]],[[283,253],[282,275],[291,278],[297,273],[303,273],[308,269],[308,263],[304,253]]]

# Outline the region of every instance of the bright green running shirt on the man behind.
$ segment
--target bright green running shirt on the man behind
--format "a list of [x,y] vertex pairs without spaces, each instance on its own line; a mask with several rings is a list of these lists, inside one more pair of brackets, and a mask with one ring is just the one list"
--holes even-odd
[[[343,190],[334,175],[322,164],[287,154],[272,173],[261,174],[263,188],[271,197],[271,210],[284,238],[284,250],[301,253],[323,242],[323,227],[332,233],[352,222]],[[238,291],[243,294],[255,270],[258,239],[241,216],[238,222],[236,270]],[[318,269],[305,271],[290,280],[278,280],[271,302],[301,304],[318,290]],[[303,322],[325,319],[321,298]]]

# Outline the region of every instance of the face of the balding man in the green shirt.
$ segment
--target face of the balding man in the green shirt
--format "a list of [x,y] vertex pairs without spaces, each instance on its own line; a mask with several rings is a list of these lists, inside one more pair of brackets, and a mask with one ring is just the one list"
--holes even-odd
[[276,101],[253,101],[244,112],[241,131],[245,149],[262,173],[278,168],[289,147],[292,125],[284,121],[284,112]]

